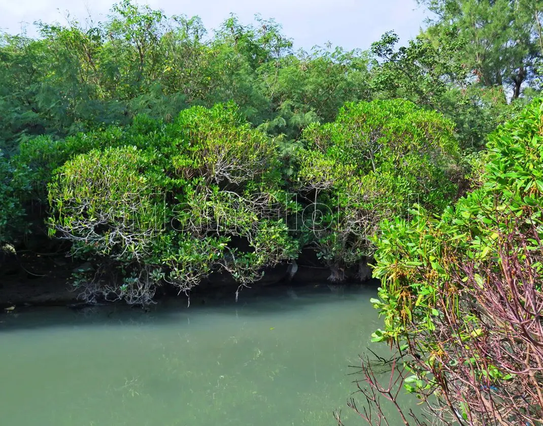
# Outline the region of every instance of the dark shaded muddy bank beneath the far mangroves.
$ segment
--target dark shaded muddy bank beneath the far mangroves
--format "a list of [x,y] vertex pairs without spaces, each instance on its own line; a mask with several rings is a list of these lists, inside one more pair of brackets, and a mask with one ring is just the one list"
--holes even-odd
[[[337,274],[329,268],[300,259],[293,264],[281,264],[264,271],[262,279],[242,291],[248,293],[269,292],[277,289],[287,291],[298,287],[328,287],[338,291],[343,286],[374,285],[369,280],[369,269],[365,276],[346,275],[344,281],[333,283],[330,277]],[[80,267],[66,257],[47,257],[41,255],[19,255],[4,262],[0,268],[0,308],[11,306],[66,306],[77,304],[79,290],[72,284],[72,272]],[[294,271],[293,271],[294,269]],[[212,274],[191,291],[192,303],[205,303],[206,300],[235,298],[239,285],[227,274]],[[171,297],[186,298],[178,290],[163,286],[157,289],[156,300]]]

